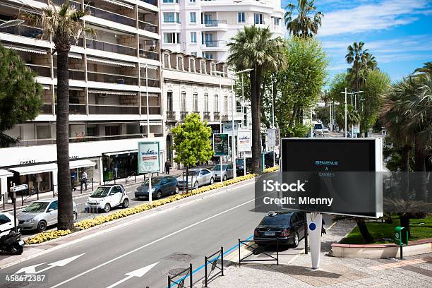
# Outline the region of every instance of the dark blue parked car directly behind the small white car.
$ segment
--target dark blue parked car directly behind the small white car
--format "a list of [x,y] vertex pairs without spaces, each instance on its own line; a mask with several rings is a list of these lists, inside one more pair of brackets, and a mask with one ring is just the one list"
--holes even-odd
[[[148,179],[138,186],[135,191],[135,198],[137,199],[147,199],[148,198]],[[152,198],[157,199],[162,198],[162,196],[169,194],[179,193],[179,183],[177,179],[172,176],[155,176],[152,177]]]

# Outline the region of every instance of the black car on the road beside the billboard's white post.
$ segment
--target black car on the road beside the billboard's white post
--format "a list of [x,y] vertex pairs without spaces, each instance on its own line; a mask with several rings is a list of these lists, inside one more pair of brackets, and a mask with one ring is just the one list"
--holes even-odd
[[260,245],[276,243],[282,245],[299,245],[304,238],[306,219],[303,212],[281,211],[268,212],[253,232],[253,241]]

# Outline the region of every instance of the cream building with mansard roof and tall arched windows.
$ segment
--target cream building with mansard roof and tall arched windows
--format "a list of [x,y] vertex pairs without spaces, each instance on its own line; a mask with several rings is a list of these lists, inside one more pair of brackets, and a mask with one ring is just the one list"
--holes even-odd
[[231,134],[234,112],[236,135],[238,128],[244,125],[245,114],[239,99],[234,100],[236,107],[232,107],[234,79],[229,76],[227,64],[167,49],[162,49],[161,53],[167,158],[173,162],[170,129],[181,124],[189,113],[199,114],[212,128],[212,133]]

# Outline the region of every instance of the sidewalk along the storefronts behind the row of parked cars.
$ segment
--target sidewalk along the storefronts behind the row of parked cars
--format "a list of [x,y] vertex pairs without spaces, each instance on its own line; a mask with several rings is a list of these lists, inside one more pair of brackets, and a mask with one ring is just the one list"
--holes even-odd
[[[211,165],[209,166],[200,166],[200,168],[209,168],[212,167]],[[169,171],[169,176],[173,176],[173,177],[178,177],[181,176],[182,172],[185,172],[185,169],[170,169]],[[157,176],[157,173],[153,173],[153,176]],[[159,173],[159,176],[164,175],[164,173]],[[80,198],[80,197],[87,197],[89,196],[92,191],[95,191],[97,189],[97,187],[99,187],[100,185],[104,185],[104,184],[121,184],[124,185],[125,187],[130,186],[130,185],[134,185],[134,184],[139,184],[140,182],[144,181],[144,175],[137,175],[137,176],[130,176],[127,179],[125,178],[121,178],[121,179],[116,179],[111,180],[111,181],[105,181],[104,183],[102,182],[94,182],[93,183],[93,188],[92,188],[92,183],[90,182],[87,186],[87,190],[83,190],[80,191],[80,186],[76,186],[76,191],[72,192],[72,197],[73,198]],[[27,196],[24,195],[22,198],[20,195],[17,195],[17,201],[16,201],[16,208],[18,210],[24,208],[27,205],[30,205],[30,203],[32,203],[32,201],[35,201],[38,199],[37,195],[32,195],[32,196]],[[47,198],[53,198],[56,197],[56,195],[54,195],[54,193],[52,192],[45,192],[45,193],[40,193],[39,194],[39,199],[47,199]],[[0,203],[0,212],[9,212],[13,210],[13,205],[12,205],[12,201],[11,199],[8,199],[7,203]]]

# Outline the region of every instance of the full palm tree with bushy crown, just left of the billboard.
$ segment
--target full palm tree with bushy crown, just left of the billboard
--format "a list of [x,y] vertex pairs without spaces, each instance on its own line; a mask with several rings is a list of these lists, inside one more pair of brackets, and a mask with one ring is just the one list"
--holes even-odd
[[249,72],[252,112],[252,169],[261,172],[260,97],[263,73],[284,67],[284,40],[272,38],[269,28],[246,26],[228,43],[228,63],[236,71]]

